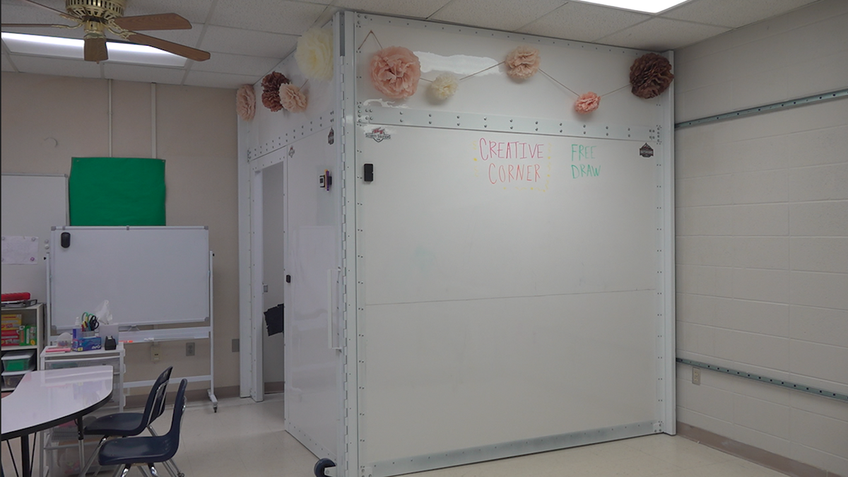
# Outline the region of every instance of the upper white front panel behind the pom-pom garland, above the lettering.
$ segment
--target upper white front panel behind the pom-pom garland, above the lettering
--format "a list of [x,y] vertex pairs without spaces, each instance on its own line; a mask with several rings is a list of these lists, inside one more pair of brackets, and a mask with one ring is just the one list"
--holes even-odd
[[[661,114],[658,104],[670,100],[668,93],[650,100],[630,93],[630,65],[645,53],[639,50],[367,14],[356,15],[355,27],[355,47],[361,46],[357,56],[361,81],[356,92],[360,116],[377,116],[384,109],[423,109],[452,111],[460,116],[477,113],[555,119],[557,126],[561,121],[563,126],[581,128],[583,124],[656,126]],[[541,71],[534,76],[511,79],[505,65],[482,71],[498,65],[522,45],[538,48],[541,55]],[[381,47],[393,46],[409,48],[421,61],[422,80],[410,98],[388,99],[371,84],[372,54]],[[432,81],[443,72],[457,78],[477,75],[461,80],[454,96],[438,100],[428,92],[431,83],[426,80]],[[566,87],[577,94],[591,91],[602,95],[600,108],[589,115],[578,115],[573,108],[577,95]],[[443,125],[433,122],[432,126]],[[600,137],[604,135],[600,133]]]

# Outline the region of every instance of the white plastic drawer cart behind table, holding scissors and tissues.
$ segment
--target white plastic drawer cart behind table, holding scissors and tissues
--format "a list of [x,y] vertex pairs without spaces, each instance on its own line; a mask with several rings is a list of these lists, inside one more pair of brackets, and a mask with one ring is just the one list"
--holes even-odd
[[[114,368],[112,379],[112,399],[95,412],[83,419],[84,423],[94,418],[124,411],[124,344],[118,343],[114,350],[54,352],[54,346],[42,351],[43,369],[81,368],[86,366],[109,365]],[[86,438],[83,442],[86,459],[94,452],[100,436]],[[80,473],[80,447],[76,434],[76,424],[71,422],[42,431],[42,469],[49,468],[53,476],[76,475]]]

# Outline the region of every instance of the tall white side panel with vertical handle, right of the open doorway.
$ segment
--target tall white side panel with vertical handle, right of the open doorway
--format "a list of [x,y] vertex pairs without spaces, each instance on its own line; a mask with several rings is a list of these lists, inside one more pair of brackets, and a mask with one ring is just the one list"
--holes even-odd
[[286,429],[317,457],[337,460],[342,405],[338,343],[338,188],[326,133],[287,151]]

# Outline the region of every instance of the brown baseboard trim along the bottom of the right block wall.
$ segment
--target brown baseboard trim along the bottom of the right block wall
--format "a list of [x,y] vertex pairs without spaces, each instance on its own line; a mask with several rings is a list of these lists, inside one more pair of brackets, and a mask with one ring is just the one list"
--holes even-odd
[[801,463],[759,447],[749,446],[680,421],[678,421],[678,435],[792,477],[841,477],[839,474],[834,474],[828,470],[818,469],[810,464]]

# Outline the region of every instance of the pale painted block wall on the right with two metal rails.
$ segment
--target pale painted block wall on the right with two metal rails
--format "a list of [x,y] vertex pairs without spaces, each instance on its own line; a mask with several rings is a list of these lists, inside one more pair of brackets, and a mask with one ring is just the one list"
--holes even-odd
[[[848,87],[848,3],[675,54],[676,121]],[[678,356],[848,394],[848,98],[675,133]],[[678,365],[678,420],[848,476],[848,404]]]

